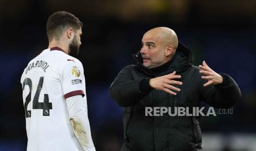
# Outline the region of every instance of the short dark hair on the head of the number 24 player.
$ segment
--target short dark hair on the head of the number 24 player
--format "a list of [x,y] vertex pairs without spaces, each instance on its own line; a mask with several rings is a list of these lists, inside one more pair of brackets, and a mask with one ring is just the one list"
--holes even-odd
[[68,28],[78,30],[80,27],[83,27],[83,23],[75,15],[67,11],[57,11],[48,18],[46,24],[48,40],[59,39]]

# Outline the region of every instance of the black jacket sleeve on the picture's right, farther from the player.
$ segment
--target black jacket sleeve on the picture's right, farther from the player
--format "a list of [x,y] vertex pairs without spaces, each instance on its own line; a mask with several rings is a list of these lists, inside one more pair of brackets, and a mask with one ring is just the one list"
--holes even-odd
[[230,75],[220,73],[223,78],[222,84],[203,86],[208,80],[199,80],[200,96],[206,103],[215,108],[230,108],[237,101],[241,100],[242,94],[237,83]]

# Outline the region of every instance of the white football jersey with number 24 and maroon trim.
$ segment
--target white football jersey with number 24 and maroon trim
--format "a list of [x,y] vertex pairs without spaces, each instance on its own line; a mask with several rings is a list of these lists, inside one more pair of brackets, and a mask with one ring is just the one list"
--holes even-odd
[[66,98],[82,95],[87,108],[83,65],[61,48],[43,50],[21,76],[28,151],[83,150],[74,135]]

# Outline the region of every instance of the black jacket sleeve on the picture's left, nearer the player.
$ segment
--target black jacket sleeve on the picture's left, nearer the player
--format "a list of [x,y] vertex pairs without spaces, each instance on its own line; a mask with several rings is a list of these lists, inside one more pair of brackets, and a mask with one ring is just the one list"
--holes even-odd
[[151,89],[141,91],[141,84],[149,88],[149,79],[134,79],[131,73],[132,66],[124,67],[110,86],[110,96],[119,106],[129,107],[149,94]]

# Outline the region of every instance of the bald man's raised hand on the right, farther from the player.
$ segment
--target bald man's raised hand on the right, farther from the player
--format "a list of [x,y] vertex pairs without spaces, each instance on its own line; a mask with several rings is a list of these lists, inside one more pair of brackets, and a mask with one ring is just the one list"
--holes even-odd
[[208,86],[210,84],[221,84],[223,82],[223,78],[220,74],[216,73],[211,69],[205,61],[203,61],[203,66],[199,65],[200,73],[204,74],[201,76],[202,79],[207,79],[208,82],[204,84],[204,86]]

